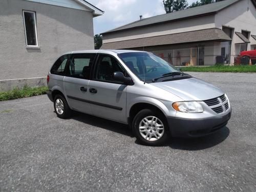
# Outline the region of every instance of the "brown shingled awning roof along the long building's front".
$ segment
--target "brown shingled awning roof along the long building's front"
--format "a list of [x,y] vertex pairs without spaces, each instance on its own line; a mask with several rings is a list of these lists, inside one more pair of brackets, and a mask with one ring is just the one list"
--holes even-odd
[[229,41],[232,39],[221,29],[212,28],[169,35],[109,42],[103,44],[101,49],[131,49],[138,47],[183,44],[187,42],[200,42],[210,40]]

